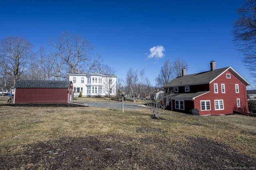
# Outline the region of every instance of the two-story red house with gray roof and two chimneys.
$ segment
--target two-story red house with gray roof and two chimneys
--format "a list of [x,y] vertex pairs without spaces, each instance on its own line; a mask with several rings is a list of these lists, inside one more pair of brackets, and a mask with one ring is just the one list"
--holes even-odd
[[175,78],[164,85],[172,94],[168,109],[189,112],[198,109],[200,115],[222,115],[233,113],[234,109],[248,112],[246,86],[250,85],[232,67],[216,69]]

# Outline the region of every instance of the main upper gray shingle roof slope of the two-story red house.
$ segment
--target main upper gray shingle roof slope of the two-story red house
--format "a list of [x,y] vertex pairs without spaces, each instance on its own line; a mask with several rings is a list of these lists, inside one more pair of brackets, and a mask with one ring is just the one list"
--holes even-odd
[[164,85],[164,87],[174,87],[174,86],[189,86],[196,84],[208,84],[214,78],[219,76],[222,72],[230,67],[220,68],[213,71],[200,72],[196,74],[188,74],[185,76],[180,76],[174,78],[172,81]]

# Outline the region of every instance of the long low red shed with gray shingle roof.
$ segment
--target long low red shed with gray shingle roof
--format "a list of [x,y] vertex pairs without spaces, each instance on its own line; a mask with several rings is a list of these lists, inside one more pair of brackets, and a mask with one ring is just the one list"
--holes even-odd
[[19,80],[14,85],[14,103],[72,102],[71,81]]

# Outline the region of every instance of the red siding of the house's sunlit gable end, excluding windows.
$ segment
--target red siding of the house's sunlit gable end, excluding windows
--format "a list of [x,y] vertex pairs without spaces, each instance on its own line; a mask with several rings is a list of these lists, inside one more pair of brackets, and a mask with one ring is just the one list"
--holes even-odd
[[[226,78],[226,74],[230,74],[230,78]],[[218,84],[218,93],[214,93],[214,84]],[[225,93],[222,93],[221,84],[225,84]],[[235,84],[239,86],[239,93],[236,93]],[[194,107],[199,110],[200,115],[220,115],[233,113],[234,106],[237,106],[236,99],[240,98],[241,107],[246,107],[248,111],[246,85],[243,84],[230,71],[224,72],[209,84],[210,92],[195,98]],[[210,111],[201,111],[200,100],[210,100]],[[223,100],[224,110],[215,110],[214,100]]]

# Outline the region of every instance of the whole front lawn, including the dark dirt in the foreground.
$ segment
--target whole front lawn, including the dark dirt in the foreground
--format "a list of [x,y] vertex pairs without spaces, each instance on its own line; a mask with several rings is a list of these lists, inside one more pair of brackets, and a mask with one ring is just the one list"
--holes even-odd
[[256,169],[256,117],[166,110],[157,120],[145,109],[6,100],[0,97],[0,169]]

